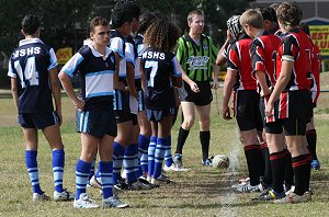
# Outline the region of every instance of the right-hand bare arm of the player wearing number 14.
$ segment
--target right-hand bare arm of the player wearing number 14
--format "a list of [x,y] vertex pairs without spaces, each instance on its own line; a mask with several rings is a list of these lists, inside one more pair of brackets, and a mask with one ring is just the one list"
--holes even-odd
[[61,125],[63,116],[61,116],[61,95],[60,95],[60,85],[58,80],[57,68],[49,69],[49,80],[50,88],[53,92],[53,98],[55,101],[55,111],[59,117],[59,125]]

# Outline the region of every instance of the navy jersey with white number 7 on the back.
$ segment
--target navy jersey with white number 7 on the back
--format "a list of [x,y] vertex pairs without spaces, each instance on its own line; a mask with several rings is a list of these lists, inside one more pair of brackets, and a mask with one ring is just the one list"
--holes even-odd
[[175,105],[172,77],[181,77],[182,68],[173,53],[148,47],[140,61],[147,80],[146,107],[162,110]]

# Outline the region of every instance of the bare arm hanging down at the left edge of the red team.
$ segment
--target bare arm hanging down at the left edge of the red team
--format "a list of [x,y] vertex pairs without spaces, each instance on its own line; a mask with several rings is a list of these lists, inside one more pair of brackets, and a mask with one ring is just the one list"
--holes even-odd
[[227,69],[223,89],[222,114],[224,119],[230,119],[229,99],[237,79],[237,70]]

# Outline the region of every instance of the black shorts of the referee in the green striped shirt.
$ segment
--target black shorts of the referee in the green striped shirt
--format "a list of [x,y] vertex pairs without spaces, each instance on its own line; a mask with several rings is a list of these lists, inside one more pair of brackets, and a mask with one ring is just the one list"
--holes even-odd
[[179,98],[181,102],[193,102],[195,105],[207,105],[213,101],[213,93],[211,83],[208,81],[194,81],[200,92],[195,93],[191,90],[191,87],[184,81],[182,87],[178,89]]

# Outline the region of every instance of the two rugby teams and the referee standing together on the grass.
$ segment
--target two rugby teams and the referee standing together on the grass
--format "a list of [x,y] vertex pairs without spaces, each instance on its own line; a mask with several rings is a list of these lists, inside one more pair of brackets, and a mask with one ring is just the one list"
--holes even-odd
[[[306,26],[299,25],[299,8],[284,2],[276,10],[234,14],[219,52],[203,34],[204,16],[200,10],[190,12],[190,32],[180,37],[179,28],[162,14],[140,14],[135,1],[118,1],[111,12],[111,25],[100,16],[90,21],[89,38],[59,73],[54,49],[39,39],[38,18],[29,14],[23,19],[25,39],[11,56],[8,76],[25,137],[33,201],[50,199],[38,182],[38,129],[53,150],[54,199],[73,201],[76,208],[100,207],[89,198],[88,186],[100,190],[101,207],[125,208],[129,204],[118,199],[122,191],[159,187],[172,182],[163,171],[188,171],[182,149],[195,111],[201,162],[212,165],[211,89],[218,87],[218,69],[224,64],[223,117],[231,118],[232,94],[249,171],[249,179],[232,189],[260,192],[253,201],[310,201],[310,169],[320,167],[313,123],[320,59]],[[269,25],[274,20],[279,26]],[[80,94],[73,89],[75,75]],[[63,186],[59,81],[76,107],[81,136],[76,194]],[[183,119],[172,157],[171,127],[180,105]]]

